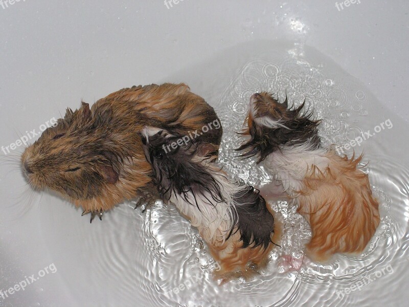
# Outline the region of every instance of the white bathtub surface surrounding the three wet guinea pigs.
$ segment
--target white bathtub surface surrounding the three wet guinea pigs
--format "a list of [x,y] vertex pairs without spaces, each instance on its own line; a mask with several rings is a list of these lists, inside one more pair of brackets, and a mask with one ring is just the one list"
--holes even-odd
[[[409,4],[352,2],[0,2],[0,146],[11,149],[0,152],[0,306],[407,305]],[[66,107],[79,107],[81,99],[93,103],[134,84],[186,82],[222,109],[222,103],[243,98],[247,88],[264,84],[243,85],[248,63],[262,70],[275,57],[284,59],[269,50],[295,52],[293,58],[305,58],[308,67],[342,87],[346,100],[362,101],[357,111],[367,111],[365,124],[351,111],[349,126],[369,129],[393,117],[393,129],[359,148],[374,165],[369,172],[375,188],[382,190],[382,183],[396,188],[396,195],[387,195],[391,208],[383,211],[390,218],[383,226],[394,229],[374,243],[376,267],[341,258],[338,269],[343,269],[332,267],[332,275],[325,267],[308,278],[308,272],[268,275],[283,280],[282,286],[263,276],[217,286],[209,272],[201,272],[203,279],[190,289],[169,294],[169,280],[194,275],[192,267],[202,270],[199,264],[208,257],[205,249],[195,251],[196,267],[187,261],[197,236],[175,209],[141,213],[122,204],[90,225],[80,209],[57,196],[32,195],[17,158],[8,162],[24,149],[12,143],[31,137],[30,131],[38,132]],[[239,83],[242,91],[236,93]],[[390,165],[388,180],[376,165]],[[395,171],[400,176],[395,178]],[[168,224],[161,224],[165,220]],[[181,244],[174,250],[172,237]],[[274,272],[274,265],[269,270]],[[38,280],[32,281],[32,274]],[[152,275],[161,278],[152,281]],[[352,290],[355,277],[368,276],[375,280]]]

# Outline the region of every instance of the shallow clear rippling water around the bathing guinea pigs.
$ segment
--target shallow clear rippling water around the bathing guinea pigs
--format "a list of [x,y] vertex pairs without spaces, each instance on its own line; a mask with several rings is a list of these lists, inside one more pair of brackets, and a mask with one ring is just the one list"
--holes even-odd
[[[75,277],[61,275],[74,295],[82,291],[76,283],[81,279],[89,289],[95,289],[90,295],[104,295],[106,305],[376,305],[402,284],[405,274],[399,272],[407,266],[409,240],[409,168],[404,159],[409,149],[407,127],[389,114],[362,82],[314,49],[268,41],[235,47],[164,81],[188,83],[193,92],[215,107],[224,130],[220,162],[225,170],[259,188],[270,180],[268,174],[253,160],[240,161],[233,151],[240,142],[236,131],[242,128],[253,93],[269,91],[283,98],[286,92],[296,106],[305,98],[314,117],[323,119],[320,135],[325,144],[348,144],[390,119],[393,128],[385,127],[353,147],[358,155],[365,152],[361,165],[369,173],[380,203],[380,226],[362,255],[338,255],[326,265],[307,261],[299,272],[280,273],[282,255],[302,257],[310,229],[292,204],[267,199],[285,220],[281,248],[271,253],[268,267],[252,280],[238,279],[219,286],[211,274],[216,264],[206,244],[174,207],[158,202],[142,213],[133,210],[130,202],[106,214],[103,223],[97,221],[90,227],[78,221],[72,235],[81,239],[59,245],[60,249],[78,252],[75,266],[80,273]],[[352,149],[345,152],[350,156]],[[44,221],[47,218],[44,214]],[[48,239],[49,252],[57,263],[62,257],[55,247],[60,236],[48,234]],[[87,273],[81,273],[81,268],[87,268]],[[352,284],[366,281],[366,286],[352,291]],[[101,289],[105,289],[104,294]]]

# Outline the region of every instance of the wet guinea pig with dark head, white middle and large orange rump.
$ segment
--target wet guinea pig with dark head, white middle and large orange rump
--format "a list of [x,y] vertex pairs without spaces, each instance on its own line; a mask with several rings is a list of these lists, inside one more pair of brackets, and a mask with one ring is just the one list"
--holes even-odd
[[266,92],[252,95],[242,133],[249,139],[238,150],[256,156],[297,200],[312,231],[307,256],[327,261],[335,253],[362,253],[380,220],[368,175],[357,168],[362,156],[348,159],[321,147],[320,121],[303,107],[288,108],[287,99],[279,103]]

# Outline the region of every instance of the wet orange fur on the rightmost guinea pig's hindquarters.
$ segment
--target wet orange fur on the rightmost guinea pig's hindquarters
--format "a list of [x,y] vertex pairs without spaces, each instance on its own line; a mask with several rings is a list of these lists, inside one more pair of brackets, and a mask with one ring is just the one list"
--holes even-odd
[[361,253],[380,221],[368,175],[357,169],[362,156],[354,160],[330,151],[328,158],[329,168],[313,167],[298,193],[298,212],[312,230],[307,254],[316,261],[334,253]]

